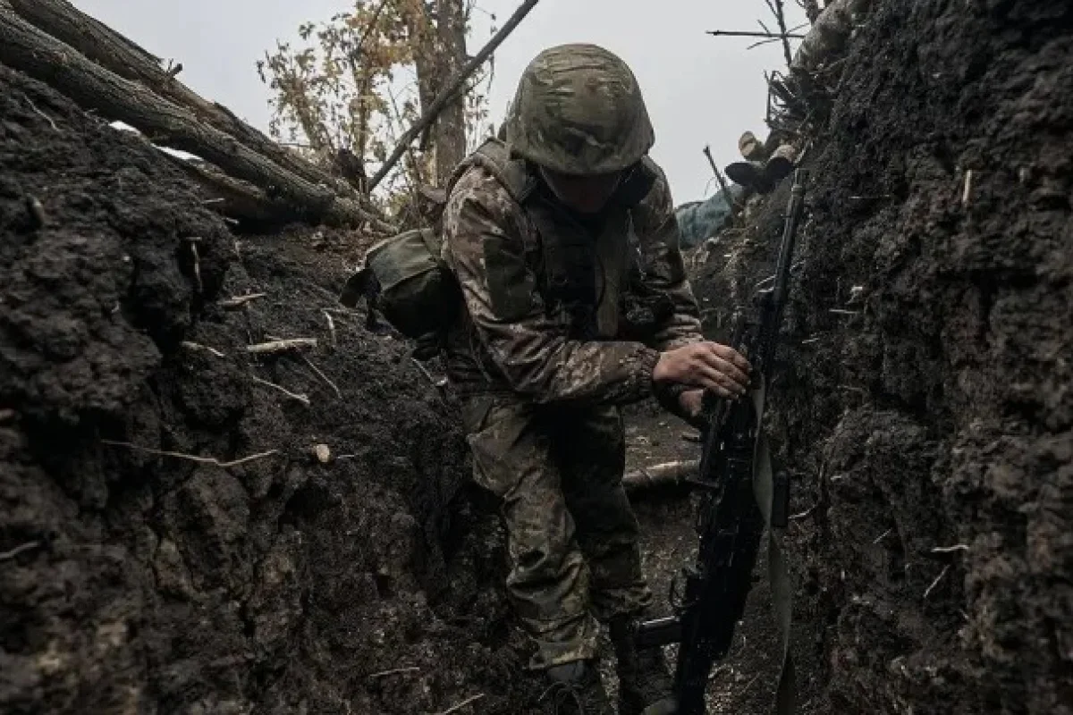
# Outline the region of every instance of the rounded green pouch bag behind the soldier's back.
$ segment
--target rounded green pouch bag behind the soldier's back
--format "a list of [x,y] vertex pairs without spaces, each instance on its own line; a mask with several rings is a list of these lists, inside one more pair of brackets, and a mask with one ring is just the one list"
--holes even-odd
[[365,297],[370,317],[379,310],[392,327],[413,340],[441,332],[457,315],[461,293],[440,258],[442,239],[430,228],[408,230],[373,244],[365,267],[347,281],[339,301],[348,308]]

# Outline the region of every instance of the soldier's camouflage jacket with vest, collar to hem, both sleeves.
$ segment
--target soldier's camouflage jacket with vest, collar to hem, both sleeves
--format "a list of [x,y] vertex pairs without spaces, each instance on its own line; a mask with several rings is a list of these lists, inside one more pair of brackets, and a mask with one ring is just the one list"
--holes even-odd
[[460,391],[635,402],[652,393],[659,351],[702,339],[666,178],[641,168],[647,181],[623,181],[634,195],[620,189],[593,226],[497,140],[464,162],[443,213],[465,299],[446,339]]

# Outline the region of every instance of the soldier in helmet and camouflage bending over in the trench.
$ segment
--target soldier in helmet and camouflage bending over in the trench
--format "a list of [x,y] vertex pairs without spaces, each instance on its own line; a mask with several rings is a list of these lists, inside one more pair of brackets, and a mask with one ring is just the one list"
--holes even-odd
[[[652,597],[621,479],[618,406],[695,415],[741,394],[749,364],[704,341],[666,178],[630,69],[593,45],[541,53],[505,126],[455,174],[443,260],[465,309],[445,339],[474,478],[502,500],[506,587],[553,712],[604,715],[598,623],[620,713],[673,713],[662,653],[632,624]],[[646,710],[647,707],[647,710]]]

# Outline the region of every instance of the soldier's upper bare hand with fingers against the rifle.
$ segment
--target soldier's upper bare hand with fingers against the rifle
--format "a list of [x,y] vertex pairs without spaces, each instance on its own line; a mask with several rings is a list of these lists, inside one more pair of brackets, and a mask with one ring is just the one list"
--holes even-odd
[[719,343],[693,343],[660,355],[652,379],[711,390],[724,398],[744,394],[749,386],[749,361]]

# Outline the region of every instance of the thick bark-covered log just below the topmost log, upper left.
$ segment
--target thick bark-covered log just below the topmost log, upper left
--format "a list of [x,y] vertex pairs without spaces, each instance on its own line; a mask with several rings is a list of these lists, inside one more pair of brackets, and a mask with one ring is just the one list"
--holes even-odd
[[283,169],[234,137],[199,122],[189,109],[88,60],[19,17],[10,0],[0,0],[0,62],[50,85],[83,106],[134,126],[153,144],[196,154],[237,178],[266,188],[268,196],[285,198],[303,215],[336,225],[394,230],[356,200]]

